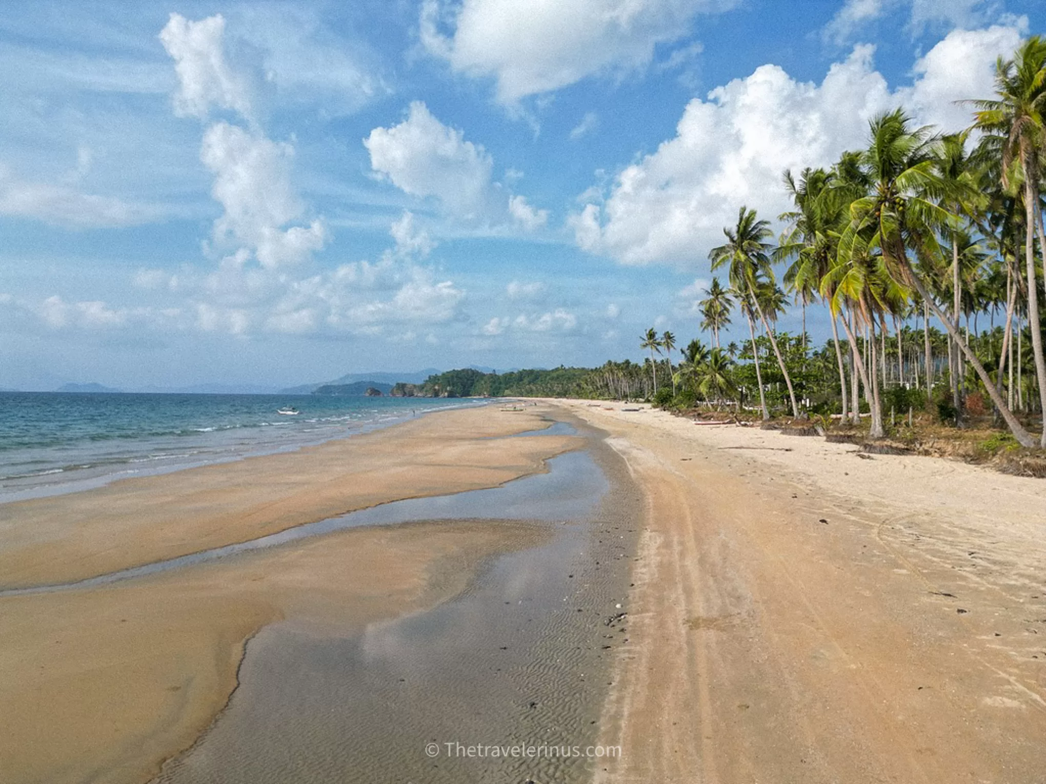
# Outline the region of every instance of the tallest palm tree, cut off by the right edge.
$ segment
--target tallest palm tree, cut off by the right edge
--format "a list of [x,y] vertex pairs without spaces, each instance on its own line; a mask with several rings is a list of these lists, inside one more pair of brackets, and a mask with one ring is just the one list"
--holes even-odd
[[[975,113],[974,128],[984,132],[986,140],[991,140],[988,143],[995,142],[1001,153],[1003,186],[1009,188],[1023,181],[1028,325],[1040,403],[1046,415],[1046,359],[1043,356],[1039,325],[1039,282],[1033,241],[1038,228],[1040,248],[1046,251],[1039,206],[1040,162],[1046,153],[1046,41],[1032,36],[1020,46],[1013,60],[1000,57],[995,70],[995,90],[997,98],[973,101],[979,110]],[[1006,423],[1009,424],[1008,419]],[[1014,435],[1017,436],[1016,433]],[[1020,437],[1018,440],[1021,440]],[[1043,428],[1040,446],[1046,448],[1046,426]]]

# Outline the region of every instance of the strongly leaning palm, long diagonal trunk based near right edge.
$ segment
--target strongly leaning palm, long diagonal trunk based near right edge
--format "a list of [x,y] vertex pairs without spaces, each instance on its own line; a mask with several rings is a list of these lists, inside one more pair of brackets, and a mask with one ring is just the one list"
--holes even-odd
[[908,256],[911,251],[919,259],[940,258],[937,233],[956,223],[955,215],[937,203],[946,193],[934,170],[937,139],[929,130],[912,130],[909,123],[900,109],[872,120],[870,145],[862,155],[872,178],[872,193],[850,205],[850,223],[839,240],[839,260],[846,263],[868,258],[878,250],[886,278],[918,292],[959,344],[1014,437],[1031,446],[1034,440],[1006,408],[983,365],[960,340],[955,324],[933,299]]

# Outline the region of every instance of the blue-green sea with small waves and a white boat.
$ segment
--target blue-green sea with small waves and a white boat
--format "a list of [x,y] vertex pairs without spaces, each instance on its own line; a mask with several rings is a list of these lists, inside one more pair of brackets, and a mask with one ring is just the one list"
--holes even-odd
[[[296,449],[468,399],[0,392],[0,503]],[[300,413],[282,416],[291,406]]]

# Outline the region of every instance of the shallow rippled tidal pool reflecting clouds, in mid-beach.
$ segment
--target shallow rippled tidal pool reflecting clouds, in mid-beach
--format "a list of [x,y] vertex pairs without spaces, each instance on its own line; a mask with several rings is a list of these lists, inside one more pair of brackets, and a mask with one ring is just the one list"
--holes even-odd
[[[293,620],[264,629],[226,711],[157,781],[586,780],[610,655],[628,636],[606,622],[622,612],[638,528],[616,456],[586,435],[590,448],[548,474],[385,505],[408,520],[492,518],[551,535],[490,559],[456,599],[362,633]],[[467,756],[457,744],[545,748]]]

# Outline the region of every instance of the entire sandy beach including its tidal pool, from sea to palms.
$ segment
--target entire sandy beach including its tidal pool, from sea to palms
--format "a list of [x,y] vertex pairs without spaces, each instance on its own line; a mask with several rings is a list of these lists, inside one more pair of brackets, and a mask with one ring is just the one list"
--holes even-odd
[[[281,652],[294,650],[311,677],[327,678],[303,692],[302,710],[337,695],[322,720],[274,730],[328,755],[326,778],[303,780],[1041,781],[1046,485],[623,408],[440,412],[298,453],[6,505],[9,589],[399,499],[463,493],[460,509],[480,509],[486,497],[470,507],[470,493],[545,476],[570,449],[593,456],[585,481],[609,488],[578,486],[602,499],[587,526],[555,523],[554,504],[538,511],[582,481],[560,469],[539,495],[522,480],[492,497],[491,520],[365,526],[2,596],[0,780],[146,782],[164,760],[176,763],[163,782],[223,769],[229,781],[286,778],[293,770],[276,765],[288,753],[270,762],[251,738],[293,697],[265,673],[294,675]],[[549,418],[582,430],[516,437]],[[523,520],[528,504],[545,523]],[[263,636],[245,666],[245,646]],[[349,681],[340,661],[355,663]],[[406,745],[386,758],[376,738],[400,732]],[[412,745],[414,735],[520,732],[620,755],[455,767]]]

